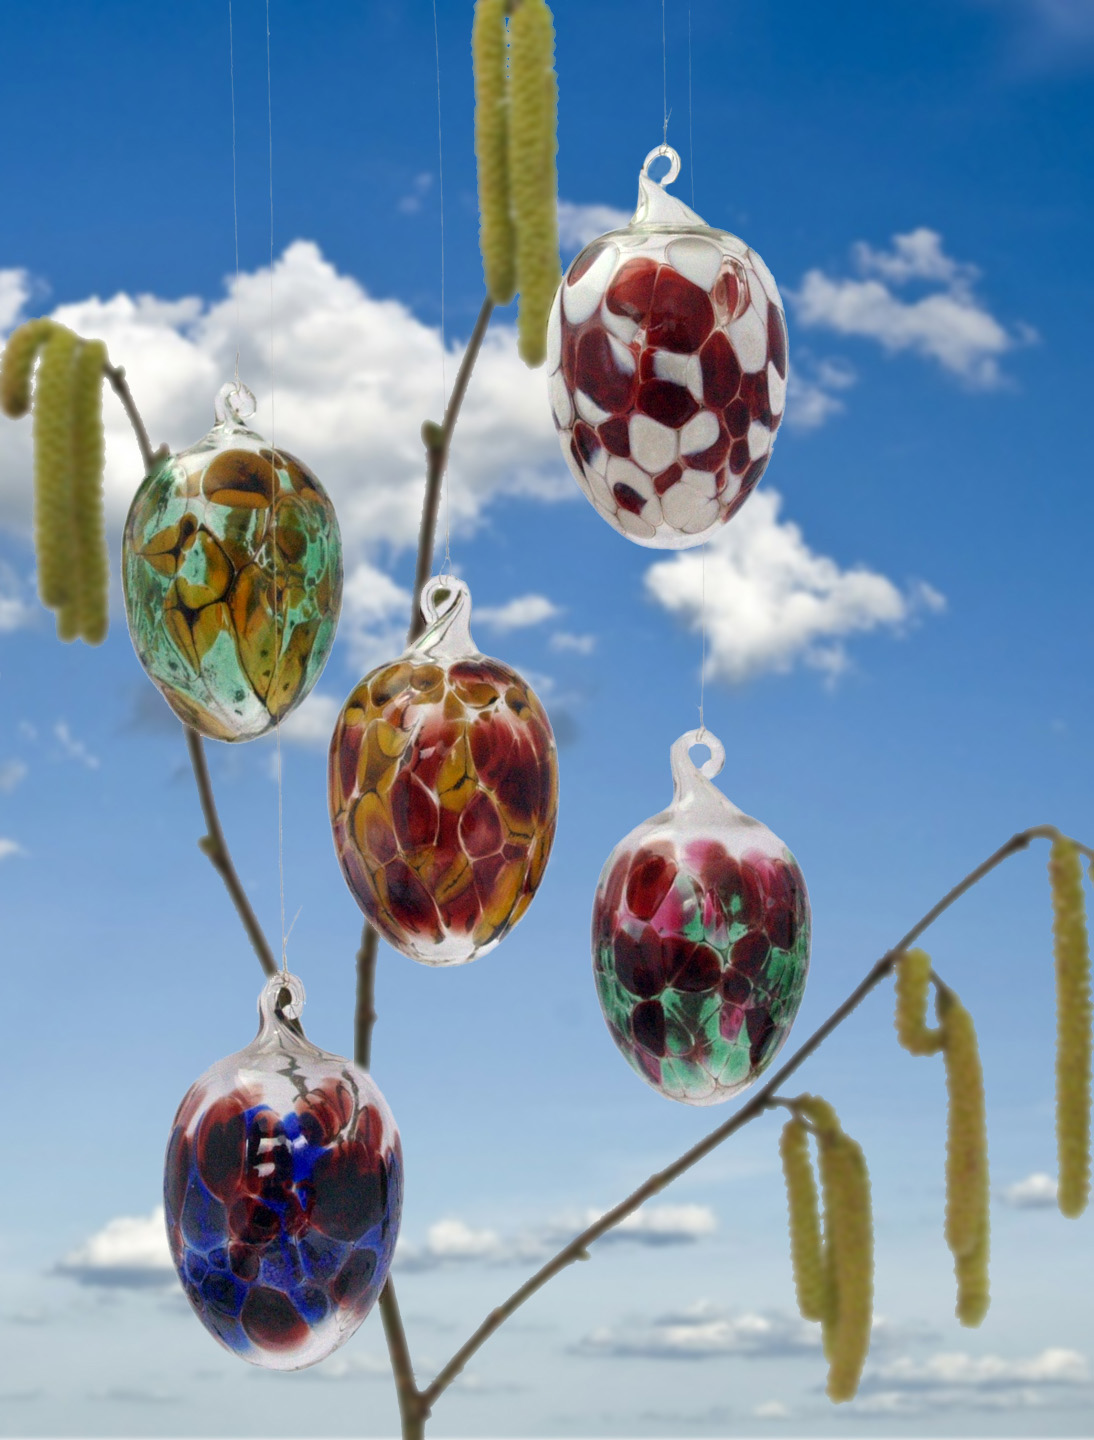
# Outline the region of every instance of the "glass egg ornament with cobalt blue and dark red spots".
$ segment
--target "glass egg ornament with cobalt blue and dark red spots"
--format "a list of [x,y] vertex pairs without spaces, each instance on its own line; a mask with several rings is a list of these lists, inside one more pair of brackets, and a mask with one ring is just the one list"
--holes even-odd
[[199,1320],[240,1359],[302,1369],[348,1339],[392,1266],[399,1130],[348,1060],[289,1021],[295,975],[259,996],[259,1032],[187,1090],[164,1164],[167,1240]]

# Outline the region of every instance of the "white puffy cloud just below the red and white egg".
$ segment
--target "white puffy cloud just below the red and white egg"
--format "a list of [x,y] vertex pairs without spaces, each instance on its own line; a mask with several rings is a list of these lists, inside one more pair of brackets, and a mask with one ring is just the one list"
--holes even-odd
[[[815,554],[793,521],[779,520],[780,505],[776,491],[759,491],[707,544],[708,678],[740,683],[799,662],[833,678],[848,668],[848,635],[900,629],[943,608],[927,585],[901,592],[875,570]],[[702,563],[700,550],[682,550],[646,570],[649,595],[692,631],[702,624]]]

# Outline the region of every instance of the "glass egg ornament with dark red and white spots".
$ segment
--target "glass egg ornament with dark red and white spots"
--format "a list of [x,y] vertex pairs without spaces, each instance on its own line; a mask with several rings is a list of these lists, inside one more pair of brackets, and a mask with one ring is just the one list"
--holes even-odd
[[[649,177],[669,160],[662,181]],[[786,317],[772,272],[664,189],[646,156],[630,223],[576,256],[547,328],[551,412],[574,480],[636,544],[717,533],[763,475],[786,403]]]

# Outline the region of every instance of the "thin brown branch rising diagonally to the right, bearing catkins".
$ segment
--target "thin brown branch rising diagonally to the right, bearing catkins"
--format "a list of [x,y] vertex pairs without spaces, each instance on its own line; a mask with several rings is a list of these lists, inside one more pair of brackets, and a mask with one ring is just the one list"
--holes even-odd
[[[805,1064],[805,1061],[823,1044],[832,1031],[841,1025],[848,1015],[851,1015],[865,996],[881,984],[904,950],[907,950],[908,946],[913,945],[944,910],[949,910],[956,900],[959,900],[967,890],[972,890],[977,881],[983,880],[983,877],[989,874],[989,871],[995,870],[996,865],[1002,864],[1003,860],[1018,854],[1019,850],[1025,850],[1031,840],[1055,838],[1057,834],[1058,831],[1055,831],[1051,825],[1039,825],[1032,829],[1023,829],[1018,835],[1012,835],[1005,845],[1000,845],[999,850],[996,850],[993,855],[989,855],[983,864],[976,867],[976,870],[972,870],[964,880],[943,896],[943,899],[933,906],[921,920],[917,920],[908,933],[903,936],[903,939],[900,939],[891,950],[887,950],[885,955],[881,956],[865,979],[848,995],[844,1004],[835,1009],[818,1030],[813,1031],[805,1044],[799,1045],[786,1064],[783,1064],[734,1116],[731,1116],[724,1125],[720,1125],[718,1129],[713,1130],[708,1136],[705,1136],[705,1139],[700,1140],[698,1145],[692,1145],[692,1148],[681,1155],[678,1161],[674,1161],[672,1165],[668,1165],[664,1171],[658,1171],[656,1175],[651,1175],[651,1178],[643,1185],[639,1185],[638,1189],[632,1191],[626,1200],[620,1201],[613,1210],[609,1210],[607,1214],[602,1215],[597,1221],[595,1221],[595,1224],[583,1230],[580,1236],[576,1236],[551,1260],[541,1266],[530,1280],[525,1280],[525,1283],[508,1297],[508,1300],[499,1305],[495,1310],[491,1310],[475,1333],[466,1341],[466,1344],[461,1345],[452,1359],[422,1391],[423,1404],[428,1407],[433,1405],[438,1395],[440,1395],[442,1391],[452,1384],[475,1351],[478,1351],[489,1339],[489,1336],[505,1323],[514,1310],[520,1309],[525,1300],[535,1295],[537,1290],[543,1289],[548,1280],[567,1266],[573,1264],[576,1260],[587,1260],[589,1246],[595,1240],[599,1240],[600,1236],[618,1225],[620,1220],[633,1214],[639,1205],[645,1204],[645,1201],[651,1200],[674,1179],[691,1169],[692,1165],[701,1161],[705,1155],[710,1155],[713,1149],[749,1125],[750,1120],[754,1120],[772,1106],[785,1103],[779,1099],[776,1092],[797,1068],[800,1068],[800,1066]],[[1087,850],[1084,845],[1080,848],[1084,851]]]

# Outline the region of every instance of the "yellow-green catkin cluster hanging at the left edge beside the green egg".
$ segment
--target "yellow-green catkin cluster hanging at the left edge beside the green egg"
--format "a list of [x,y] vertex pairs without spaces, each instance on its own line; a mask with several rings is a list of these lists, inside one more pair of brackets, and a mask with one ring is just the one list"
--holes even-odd
[[0,409],[30,409],[35,384],[35,552],[42,603],[60,639],[107,636],[108,560],[102,526],[102,376],[107,347],[55,320],[16,330],[0,366]]

